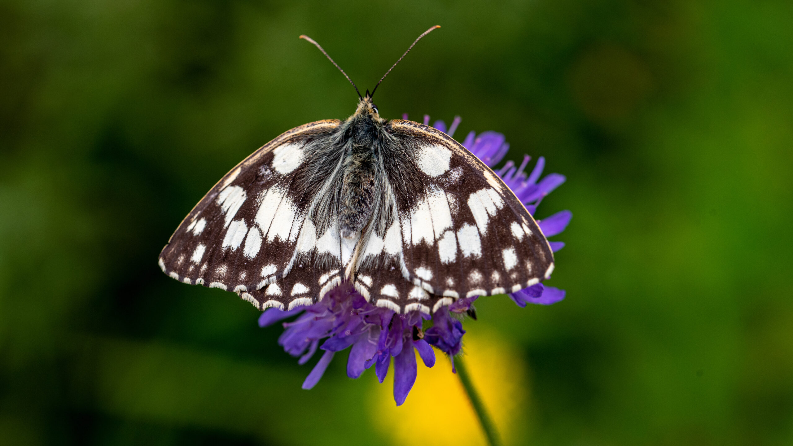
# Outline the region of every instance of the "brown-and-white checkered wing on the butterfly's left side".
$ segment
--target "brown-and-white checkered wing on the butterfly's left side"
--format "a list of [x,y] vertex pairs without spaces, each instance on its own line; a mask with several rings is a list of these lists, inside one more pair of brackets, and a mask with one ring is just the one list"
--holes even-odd
[[[327,156],[316,160],[310,149],[328,146],[325,140],[339,123],[301,125],[239,163],[185,217],[160,253],[159,267],[184,283],[234,291],[259,308],[265,301],[249,293],[296,269],[288,290],[274,294],[275,287],[267,289],[274,296],[267,299],[272,301],[269,305],[282,307],[294,298],[308,297],[313,287],[296,279],[301,278],[298,270],[312,268],[300,263],[300,255],[313,256],[331,271],[349,261],[357,241],[340,240],[338,227],[317,228],[307,219],[327,176],[314,181],[305,176],[316,163],[332,167],[334,162]],[[314,167],[308,167],[311,164]]]

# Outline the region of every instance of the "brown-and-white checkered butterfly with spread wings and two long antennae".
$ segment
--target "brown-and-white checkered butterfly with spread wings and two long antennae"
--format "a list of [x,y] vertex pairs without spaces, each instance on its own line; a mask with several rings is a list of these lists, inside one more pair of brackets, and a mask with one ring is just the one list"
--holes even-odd
[[291,129],[224,175],[168,240],[163,272],[259,310],[351,284],[397,313],[549,278],[548,240],[498,175],[446,133],[380,116],[372,98],[397,63],[372,93],[355,87],[351,117]]

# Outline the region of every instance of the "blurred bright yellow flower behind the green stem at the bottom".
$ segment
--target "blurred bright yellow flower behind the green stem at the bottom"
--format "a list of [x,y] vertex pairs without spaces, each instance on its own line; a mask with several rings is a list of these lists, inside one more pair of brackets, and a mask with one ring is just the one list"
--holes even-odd
[[[481,323],[480,323],[481,324]],[[465,363],[505,444],[523,439],[530,419],[529,375],[521,352],[481,325],[465,334]],[[435,367],[419,363],[416,384],[402,406],[393,400],[393,373],[374,381],[372,421],[393,444],[485,446],[485,434],[446,356],[435,350]]]

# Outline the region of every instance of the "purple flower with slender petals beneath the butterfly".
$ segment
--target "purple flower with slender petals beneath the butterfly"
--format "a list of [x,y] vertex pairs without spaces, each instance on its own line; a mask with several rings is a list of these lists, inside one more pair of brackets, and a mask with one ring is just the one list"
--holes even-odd
[[[408,119],[407,113],[403,114]],[[423,123],[429,125],[429,115],[424,115]],[[454,136],[460,124],[460,117],[454,117],[448,131],[443,121],[435,121],[433,126]],[[507,154],[509,144],[504,135],[485,132],[477,136],[471,132],[462,143],[465,148],[479,157],[489,167],[495,166]],[[534,215],[537,206],[547,194],[565,182],[564,175],[550,174],[542,179],[545,158],[537,160],[531,173],[526,173],[531,158],[523,156],[519,167],[508,161],[496,171],[504,183],[515,192],[515,196]],[[542,233],[547,237],[556,236],[565,230],[573,214],[569,210],[554,213],[538,220]],[[551,241],[550,247],[556,252],[564,247],[561,241]],[[538,283],[526,289],[509,294],[518,306],[527,303],[550,305],[565,298],[565,291]],[[283,323],[284,333],[278,338],[285,352],[299,357],[297,363],[305,364],[317,350],[323,354],[303,382],[304,389],[311,389],[320,381],[335,352],[350,348],[347,359],[347,376],[358,378],[364,370],[374,366],[377,379],[382,383],[388,374],[391,358],[394,363],[394,400],[400,406],[408,397],[413,383],[416,382],[416,352],[427,367],[435,365],[435,352],[431,346],[445,352],[452,359],[462,349],[462,319],[465,314],[476,318],[473,302],[478,296],[460,298],[450,306],[442,306],[430,317],[428,314],[411,311],[397,314],[393,310],[377,307],[363,298],[349,283],[342,283],[328,292],[325,297],[311,306],[283,311],[270,308],[259,317],[259,325],[266,327],[289,317],[297,318]],[[432,320],[432,326],[423,332],[423,321]]]

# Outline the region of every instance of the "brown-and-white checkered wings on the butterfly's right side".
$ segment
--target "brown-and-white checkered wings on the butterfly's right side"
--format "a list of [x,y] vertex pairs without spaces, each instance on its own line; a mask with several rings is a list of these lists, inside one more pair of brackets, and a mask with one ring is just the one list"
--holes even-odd
[[425,313],[457,298],[504,294],[550,277],[554,255],[515,194],[439,130],[390,121],[385,156],[396,218],[370,233],[356,288],[377,306]]

